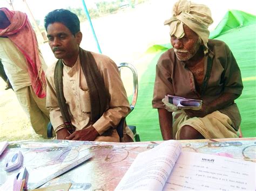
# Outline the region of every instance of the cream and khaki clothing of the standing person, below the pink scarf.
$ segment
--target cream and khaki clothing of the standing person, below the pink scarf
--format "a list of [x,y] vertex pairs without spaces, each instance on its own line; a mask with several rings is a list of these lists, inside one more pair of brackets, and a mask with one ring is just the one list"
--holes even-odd
[[[10,39],[0,38],[0,58],[17,99],[29,117],[33,129],[47,138],[46,127],[50,119],[49,111],[45,107],[46,98],[38,98],[33,91],[25,56]],[[39,55],[39,58],[45,70],[47,66],[42,55]]]

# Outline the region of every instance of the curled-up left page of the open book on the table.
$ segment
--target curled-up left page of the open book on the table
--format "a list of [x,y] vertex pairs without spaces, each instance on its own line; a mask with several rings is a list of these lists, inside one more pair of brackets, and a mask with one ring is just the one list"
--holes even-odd
[[139,153],[115,190],[162,190],[181,151],[181,144],[168,140]]

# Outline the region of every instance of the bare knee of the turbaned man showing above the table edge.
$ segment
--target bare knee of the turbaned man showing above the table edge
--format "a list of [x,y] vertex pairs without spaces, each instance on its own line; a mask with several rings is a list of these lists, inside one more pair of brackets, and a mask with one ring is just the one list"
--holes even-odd
[[196,129],[190,125],[184,125],[180,131],[180,139],[205,139]]

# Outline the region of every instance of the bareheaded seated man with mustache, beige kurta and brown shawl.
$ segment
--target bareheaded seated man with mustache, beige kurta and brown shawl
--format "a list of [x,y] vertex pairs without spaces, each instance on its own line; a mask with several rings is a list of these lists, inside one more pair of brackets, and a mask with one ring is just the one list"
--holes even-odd
[[[46,73],[46,107],[57,139],[119,142],[116,126],[130,105],[116,63],[80,48],[80,22],[69,10],[54,10],[44,21],[58,59]],[[132,141],[124,124],[124,142]]]

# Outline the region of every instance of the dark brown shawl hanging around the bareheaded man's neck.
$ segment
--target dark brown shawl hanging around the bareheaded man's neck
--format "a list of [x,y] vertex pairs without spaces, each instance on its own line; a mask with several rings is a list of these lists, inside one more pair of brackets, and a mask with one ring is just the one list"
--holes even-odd
[[[106,103],[109,99],[107,97],[103,77],[99,73],[96,61],[91,52],[79,48],[79,59],[90,94],[91,122],[95,123],[105,112]],[[64,125],[69,130],[74,131],[75,129],[71,124],[68,107],[63,93],[63,63],[61,59],[56,63],[54,79],[59,108],[62,113]]]

